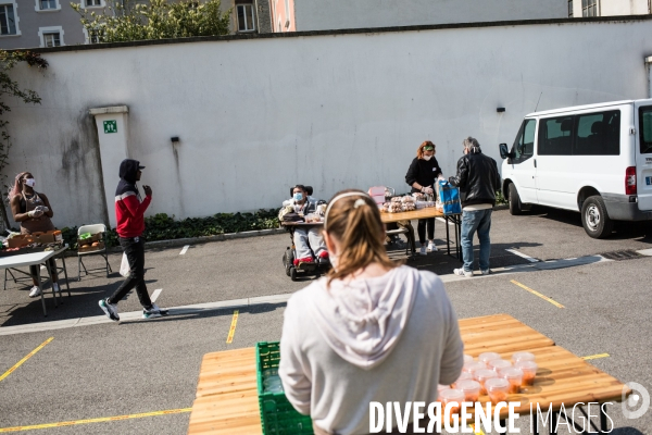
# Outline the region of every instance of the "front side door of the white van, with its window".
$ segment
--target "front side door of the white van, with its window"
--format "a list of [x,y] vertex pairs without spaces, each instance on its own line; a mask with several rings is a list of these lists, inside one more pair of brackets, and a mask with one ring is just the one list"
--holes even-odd
[[521,202],[537,203],[537,167],[535,166],[535,135],[537,120],[524,120],[507,160],[510,177],[518,190]]

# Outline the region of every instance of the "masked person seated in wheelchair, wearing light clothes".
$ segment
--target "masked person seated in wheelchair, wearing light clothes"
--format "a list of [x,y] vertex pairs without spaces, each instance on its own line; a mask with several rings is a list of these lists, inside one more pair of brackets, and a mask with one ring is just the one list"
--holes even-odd
[[[303,215],[315,213],[317,211],[317,200],[308,196],[308,190],[302,184],[294,186],[292,189],[292,198],[284,201],[283,206],[293,206],[296,212],[302,213]],[[294,228],[294,247],[297,249],[294,265],[314,262],[315,260],[312,252],[314,252],[319,260],[328,258],[328,251],[326,250],[326,244],[322,236],[321,225],[297,226]]]

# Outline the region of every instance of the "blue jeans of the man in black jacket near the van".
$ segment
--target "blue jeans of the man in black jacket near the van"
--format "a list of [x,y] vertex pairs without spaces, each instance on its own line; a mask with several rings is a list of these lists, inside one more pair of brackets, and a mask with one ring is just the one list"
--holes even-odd
[[491,209],[466,211],[462,210],[462,258],[464,259],[464,271],[473,272],[473,235],[478,232],[480,240],[480,271],[489,269],[489,256],[491,254]]

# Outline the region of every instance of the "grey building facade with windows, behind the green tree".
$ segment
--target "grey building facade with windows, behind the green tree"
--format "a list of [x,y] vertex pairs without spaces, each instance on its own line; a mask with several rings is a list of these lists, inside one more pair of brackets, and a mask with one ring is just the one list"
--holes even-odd
[[[75,2],[98,14],[108,8],[106,0]],[[272,32],[269,0],[222,0],[222,8],[233,8],[233,34]],[[0,0],[0,49],[84,44],[88,33],[71,0]]]

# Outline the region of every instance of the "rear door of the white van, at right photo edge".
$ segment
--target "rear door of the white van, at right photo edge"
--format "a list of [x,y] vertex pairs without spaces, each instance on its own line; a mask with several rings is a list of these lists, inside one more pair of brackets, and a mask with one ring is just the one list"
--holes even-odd
[[[644,102],[649,104],[650,102]],[[641,211],[652,210],[652,105],[635,104],[638,140],[636,142],[636,184]]]

